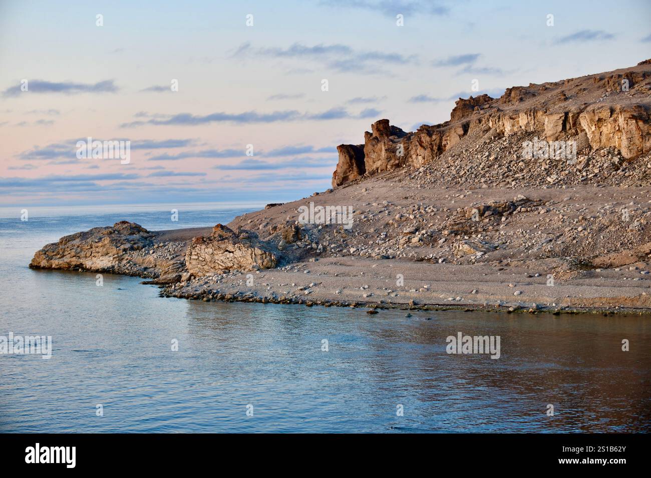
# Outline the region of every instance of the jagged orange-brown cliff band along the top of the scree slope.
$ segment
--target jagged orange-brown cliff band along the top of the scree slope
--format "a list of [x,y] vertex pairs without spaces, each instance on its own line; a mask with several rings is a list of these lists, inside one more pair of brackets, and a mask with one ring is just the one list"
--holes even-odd
[[[508,142],[513,137],[512,142],[521,144],[527,138],[517,133],[550,142],[579,143],[585,135],[591,150],[616,148],[624,159],[650,152],[651,60],[609,73],[514,86],[498,99],[486,94],[460,98],[449,121],[423,125],[411,133],[391,126],[389,120],[379,120],[365,132],[363,149],[350,144],[338,146],[339,164],[332,185],[403,166],[419,168],[433,163],[456,144],[463,147],[473,135],[492,142],[504,138]],[[516,144],[509,146],[514,150]]]

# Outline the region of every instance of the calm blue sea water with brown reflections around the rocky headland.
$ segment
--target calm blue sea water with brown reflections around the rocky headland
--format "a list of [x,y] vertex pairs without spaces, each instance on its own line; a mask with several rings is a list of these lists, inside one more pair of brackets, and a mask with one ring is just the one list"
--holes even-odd
[[[258,207],[192,205],[178,222],[170,209],[0,211],[0,335],[52,336],[54,349],[0,355],[0,431],[651,431],[648,317],[206,303],[161,299],[138,278],[98,287],[92,273],[27,268],[94,226],[212,226]],[[501,336],[501,358],[447,354],[457,332]]]

